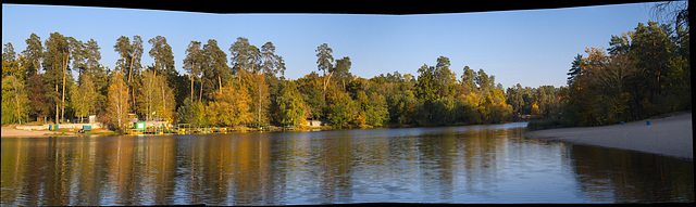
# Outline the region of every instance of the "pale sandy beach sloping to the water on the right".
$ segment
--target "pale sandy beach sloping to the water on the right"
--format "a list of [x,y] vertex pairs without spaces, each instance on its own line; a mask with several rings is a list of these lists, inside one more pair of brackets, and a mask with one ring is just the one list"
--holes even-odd
[[[650,125],[646,125],[646,120]],[[524,137],[694,159],[691,113],[646,120],[602,127],[530,131]]]

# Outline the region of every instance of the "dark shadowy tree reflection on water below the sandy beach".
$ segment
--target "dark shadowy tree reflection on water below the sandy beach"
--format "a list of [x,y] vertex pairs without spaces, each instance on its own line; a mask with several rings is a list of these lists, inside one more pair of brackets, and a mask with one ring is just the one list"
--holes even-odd
[[694,200],[693,161],[588,146],[570,148],[575,178],[592,194],[592,202]]

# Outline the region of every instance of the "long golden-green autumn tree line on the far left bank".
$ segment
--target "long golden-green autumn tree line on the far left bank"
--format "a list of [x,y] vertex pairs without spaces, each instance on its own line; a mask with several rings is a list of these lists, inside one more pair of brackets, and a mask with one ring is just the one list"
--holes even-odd
[[273,43],[259,48],[244,37],[228,53],[214,39],[190,41],[183,64],[187,74],[174,68],[172,49],[161,36],[147,41],[153,60],[147,66],[141,37],[117,38],[114,68],[100,63],[94,39],[52,33],[45,41],[32,34],[25,42],[20,54],[12,43],[3,48],[3,125],[96,114],[115,129],[134,117],[196,127],[301,126],[307,119],[337,127],[430,126],[500,122],[511,112],[495,76],[465,67],[459,79],[445,56],[435,66],[423,65],[418,79],[398,72],[365,79],[350,73],[349,56],[335,60],[323,43],[315,50],[318,70],[287,80]]

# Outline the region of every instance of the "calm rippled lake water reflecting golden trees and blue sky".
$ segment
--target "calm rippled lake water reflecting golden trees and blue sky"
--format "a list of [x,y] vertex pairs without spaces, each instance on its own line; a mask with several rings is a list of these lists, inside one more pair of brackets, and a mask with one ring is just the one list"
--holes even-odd
[[3,138],[2,205],[694,202],[694,163],[526,124]]

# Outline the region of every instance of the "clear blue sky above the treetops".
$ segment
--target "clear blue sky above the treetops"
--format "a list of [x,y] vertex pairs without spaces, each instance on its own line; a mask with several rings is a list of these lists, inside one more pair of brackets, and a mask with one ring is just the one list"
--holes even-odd
[[58,31],[77,40],[95,39],[101,61],[113,68],[121,36],[144,39],[144,65],[152,59],[148,39],[163,36],[179,73],[191,40],[217,40],[229,55],[237,37],[261,47],[272,41],[286,62],[285,76],[297,79],[316,70],[314,50],[328,43],[334,59],[350,56],[353,75],[371,78],[394,73],[418,76],[423,64],[450,59],[459,77],[468,65],[495,75],[505,88],[564,86],[573,57],[587,47],[605,47],[611,35],[654,20],[652,3],[501,12],[358,15],[358,14],[211,14],[112,8],[2,4],[2,44],[15,52],[32,33],[45,41]]

